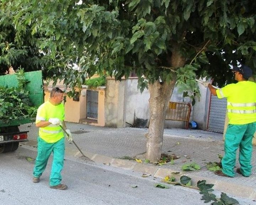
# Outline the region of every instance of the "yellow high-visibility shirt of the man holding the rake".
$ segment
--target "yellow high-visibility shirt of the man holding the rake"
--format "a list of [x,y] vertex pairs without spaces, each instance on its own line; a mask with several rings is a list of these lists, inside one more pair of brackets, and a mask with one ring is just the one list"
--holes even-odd
[[[60,103],[55,106],[50,101],[43,103],[37,110],[36,123],[39,121],[48,121],[49,118],[59,118],[61,121],[65,118],[64,105]],[[39,127],[39,137],[48,143],[54,143],[64,137],[60,126],[50,124],[46,127]]]

